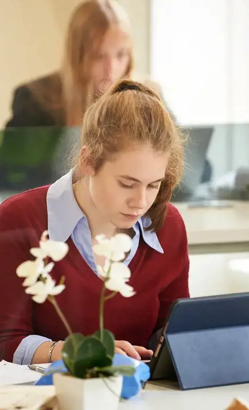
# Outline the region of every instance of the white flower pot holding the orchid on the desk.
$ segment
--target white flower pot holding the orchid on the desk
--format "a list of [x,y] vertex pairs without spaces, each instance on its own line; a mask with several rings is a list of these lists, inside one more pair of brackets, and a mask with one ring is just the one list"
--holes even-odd
[[117,410],[122,382],[120,375],[95,379],[53,375],[60,410]]

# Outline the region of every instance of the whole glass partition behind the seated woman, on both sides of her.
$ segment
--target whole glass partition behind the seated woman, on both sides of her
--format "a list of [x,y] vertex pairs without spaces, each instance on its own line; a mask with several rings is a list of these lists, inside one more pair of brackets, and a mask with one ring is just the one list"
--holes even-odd
[[[189,126],[184,175],[173,201],[249,199],[249,124]],[[0,199],[48,185],[65,174],[80,129],[8,128],[0,134]]]

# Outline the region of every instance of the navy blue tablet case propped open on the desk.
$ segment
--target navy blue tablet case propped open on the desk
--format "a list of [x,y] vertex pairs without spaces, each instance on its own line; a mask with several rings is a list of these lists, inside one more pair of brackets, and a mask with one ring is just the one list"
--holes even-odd
[[151,379],[181,389],[249,382],[249,293],[179,299],[169,315]]

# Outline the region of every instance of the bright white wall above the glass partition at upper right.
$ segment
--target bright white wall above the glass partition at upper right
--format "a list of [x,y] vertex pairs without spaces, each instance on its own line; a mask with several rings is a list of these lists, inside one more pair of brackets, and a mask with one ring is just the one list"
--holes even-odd
[[248,0],[151,0],[151,9],[151,74],[179,120],[248,121]]

